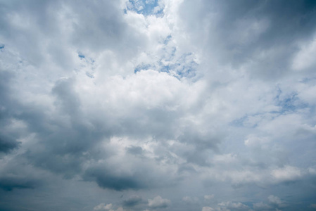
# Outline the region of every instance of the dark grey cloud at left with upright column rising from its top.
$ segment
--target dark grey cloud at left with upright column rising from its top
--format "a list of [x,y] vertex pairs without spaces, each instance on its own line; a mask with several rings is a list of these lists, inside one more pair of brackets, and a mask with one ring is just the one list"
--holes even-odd
[[[44,128],[31,127],[40,142],[25,155],[35,165],[71,178],[82,171],[84,160],[94,158],[84,152],[108,134],[98,122],[85,119],[71,79],[56,82],[52,93],[56,96],[58,113],[50,119],[42,111],[44,118],[37,120],[37,125]],[[94,156],[97,158],[97,153]]]

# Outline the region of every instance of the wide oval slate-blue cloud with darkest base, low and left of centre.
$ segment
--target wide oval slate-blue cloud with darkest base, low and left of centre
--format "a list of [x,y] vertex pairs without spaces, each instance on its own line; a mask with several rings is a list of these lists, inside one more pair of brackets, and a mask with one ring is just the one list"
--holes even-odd
[[[163,186],[175,186],[179,182],[177,175],[160,170],[158,162],[148,162],[148,158],[115,164],[99,163],[90,165],[82,175],[85,181],[96,181],[101,188],[115,191],[151,189]],[[155,167],[156,166],[156,167]]]

